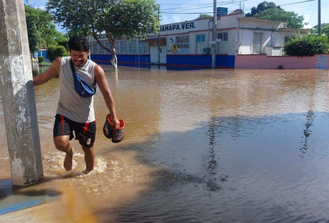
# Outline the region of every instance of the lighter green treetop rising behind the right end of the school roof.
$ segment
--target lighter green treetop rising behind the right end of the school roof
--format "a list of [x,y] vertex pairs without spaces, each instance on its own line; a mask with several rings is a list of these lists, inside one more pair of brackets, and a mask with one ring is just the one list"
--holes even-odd
[[298,16],[298,14],[294,13],[293,11],[285,11],[277,8],[264,10],[261,13],[255,14],[254,17],[260,19],[284,21],[287,22],[288,28],[293,29],[301,29],[304,26],[304,17],[302,15]]

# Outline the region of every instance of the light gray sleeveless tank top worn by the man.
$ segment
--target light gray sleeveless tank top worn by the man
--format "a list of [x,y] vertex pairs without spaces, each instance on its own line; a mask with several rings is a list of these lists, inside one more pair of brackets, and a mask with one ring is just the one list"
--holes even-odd
[[[94,96],[84,98],[75,91],[70,59],[70,56],[62,57],[61,59],[59,73],[61,92],[56,113],[64,115],[75,122],[93,122],[95,121]],[[91,88],[94,86],[95,65],[96,63],[91,60],[87,60],[82,67],[74,65],[75,71]]]

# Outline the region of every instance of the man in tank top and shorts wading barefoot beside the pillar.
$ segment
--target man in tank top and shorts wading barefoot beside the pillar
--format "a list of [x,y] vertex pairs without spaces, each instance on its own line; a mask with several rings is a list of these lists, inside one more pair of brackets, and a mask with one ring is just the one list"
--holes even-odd
[[[89,42],[83,36],[72,36],[68,41],[68,48],[71,56],[57,58],[53,61],[50,68],[33,78],[34,86],[41,85],[50,79],[59,75],[61,83],[60,100],[55,116],[54,124],[54,143],[58,150],[66,153],[64,159],[64,168],[66,171],[72,170],[73,148],[69,140],[73,139],[73,130],[75,139],[79,140],[83,151],[85,152],[86,171],[88,173],[94,169],[95,152],[94,141],[96,133],[95,115],[93,108],[93,94],[89,97],[80,95],[85,92],[77,92],[77,84],[72,75],[72,59],[74,70],[82,79],[84,84],[94,87],[96,84],[102,92],[106,106],[108,107],[114,126],[119,127],[119,120],[116,118],[114,100],[105,73],[103,69],[91,60],[88,60]],[[81,84],[81,82],[80,82]],[[86,86],[85,85],[85,86]]]

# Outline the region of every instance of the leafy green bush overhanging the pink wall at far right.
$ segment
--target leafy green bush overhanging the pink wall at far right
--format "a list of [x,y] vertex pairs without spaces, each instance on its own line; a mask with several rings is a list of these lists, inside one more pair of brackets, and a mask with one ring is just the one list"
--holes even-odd
[[296,33],[283,49],[286,55],[291,56],[313,56],[315,53],[326,53],[329,49],[328,36]]

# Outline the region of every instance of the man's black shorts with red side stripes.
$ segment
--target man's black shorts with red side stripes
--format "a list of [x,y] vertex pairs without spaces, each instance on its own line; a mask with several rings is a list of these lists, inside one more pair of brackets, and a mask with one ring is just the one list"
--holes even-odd
[[61,135],[69,135],[70,140],[74,138],[79,140],[80,145],[93,147],[96,136],[96,122],[80,123],[72,121],[61,114],[56,114],[54,124],[54,138]]

